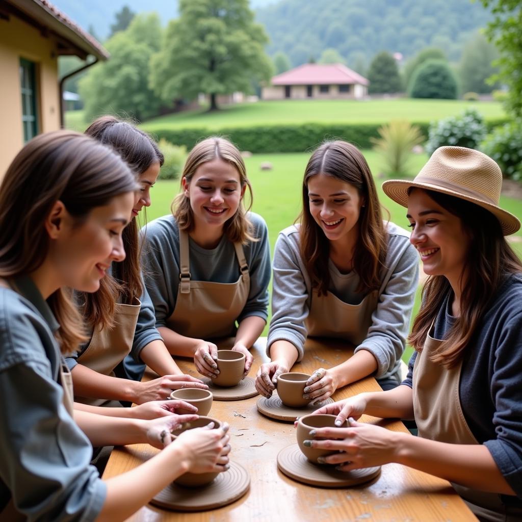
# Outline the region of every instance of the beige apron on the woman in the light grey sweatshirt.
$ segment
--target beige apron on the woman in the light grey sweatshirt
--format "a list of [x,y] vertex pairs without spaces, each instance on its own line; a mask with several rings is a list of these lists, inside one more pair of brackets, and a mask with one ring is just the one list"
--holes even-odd
[[355,346],[366,339],[377,307],[378,291],[367,294],[359,304],[348,304],[327,292],[319,296],[312,291],[310,313],[305,319],[311,337],[346,339]]

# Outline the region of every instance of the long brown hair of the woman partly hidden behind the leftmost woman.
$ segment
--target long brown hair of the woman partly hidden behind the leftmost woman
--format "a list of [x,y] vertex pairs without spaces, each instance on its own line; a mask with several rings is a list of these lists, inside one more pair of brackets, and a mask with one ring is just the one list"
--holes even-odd
[[[136,176],[145,172],[153,163],[163,165],[163,155],[150,136],[132,123],[115,116],[97,118],[85,134],[111,146],[131,167]],[[89,324],[111,327],[114,304],[117,301],[132,303],[143,292],[140,270],[140,243],[137,216],[125,227],[122,235],[125,260],[113,263],[112,277],[104,277],[98,292],[84,293],[81,301]]]

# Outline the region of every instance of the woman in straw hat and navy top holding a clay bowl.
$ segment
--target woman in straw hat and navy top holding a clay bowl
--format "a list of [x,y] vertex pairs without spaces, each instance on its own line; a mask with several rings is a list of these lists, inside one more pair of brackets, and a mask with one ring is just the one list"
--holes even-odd
[[[481,152],[441,147],[413,181],[384,192],[408,207],[411,243],[430,277],[401,386],[317,413],[351,418],[326,462],[343,470],[399,462],[451,481],[480,520],[522,519],[522,263],[504,236],[519,220],[499,207],[502,173]],[[419,437],[356,422],[414,418]],[[355,419],[355,420],[353,420]],[[313,437],[332,435],[321,429]]]

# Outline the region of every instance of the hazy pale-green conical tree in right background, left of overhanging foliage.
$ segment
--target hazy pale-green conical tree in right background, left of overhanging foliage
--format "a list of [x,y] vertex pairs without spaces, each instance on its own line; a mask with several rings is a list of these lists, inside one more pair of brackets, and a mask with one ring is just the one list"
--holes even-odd
[[487,93],[499,87],[486,81],[498,69],[493,67],[498,53],[483,34],[477,33],[466,44],[460,60],[459,76],[462,92]]

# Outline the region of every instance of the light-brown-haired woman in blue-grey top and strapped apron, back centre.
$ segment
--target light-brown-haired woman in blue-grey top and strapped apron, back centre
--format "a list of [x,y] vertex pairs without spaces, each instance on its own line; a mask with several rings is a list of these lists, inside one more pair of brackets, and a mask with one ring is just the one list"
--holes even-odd
[[201,141],[188,155],[181,185],[173,215],[145,231],[156,326],[169,352],[193,357],[207,377],[219,373],[215,341],[228,338],[246,356],[246,375],[248,349],[268,316],[270,251],[263,218],[243,204],[252,189],[241,153],[223,138]]

